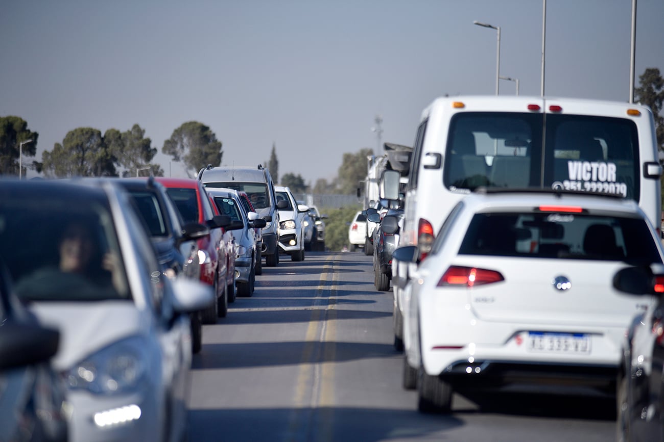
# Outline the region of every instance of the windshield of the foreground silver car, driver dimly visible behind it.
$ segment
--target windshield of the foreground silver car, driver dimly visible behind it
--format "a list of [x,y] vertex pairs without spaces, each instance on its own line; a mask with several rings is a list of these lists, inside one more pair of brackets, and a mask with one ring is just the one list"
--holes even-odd
[[112,217],[100,203],[9,198],[0,205],[0,252],[25,301],[131,298]]

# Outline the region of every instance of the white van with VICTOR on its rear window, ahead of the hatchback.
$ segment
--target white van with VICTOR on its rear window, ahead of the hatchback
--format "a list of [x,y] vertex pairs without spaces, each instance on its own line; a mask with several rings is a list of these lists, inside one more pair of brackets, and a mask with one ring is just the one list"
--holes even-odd
[[[416,133],[400,246],[416,245],[426,258],[452,207],[479,187],[618,193],[637,201],[659,230],[661,173],[649,107],[552,97],[438,98],[422,111]],[[401,292],[415,266],[396,266],[395,344]]]

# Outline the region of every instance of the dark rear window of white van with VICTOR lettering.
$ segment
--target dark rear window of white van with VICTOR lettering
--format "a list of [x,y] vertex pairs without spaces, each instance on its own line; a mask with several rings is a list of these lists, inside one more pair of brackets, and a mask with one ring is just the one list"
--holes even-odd
[[443,182],[452,190],[560,188],[638,201],[638,166],[637,127],[628,119],[464,112],[450,122]]

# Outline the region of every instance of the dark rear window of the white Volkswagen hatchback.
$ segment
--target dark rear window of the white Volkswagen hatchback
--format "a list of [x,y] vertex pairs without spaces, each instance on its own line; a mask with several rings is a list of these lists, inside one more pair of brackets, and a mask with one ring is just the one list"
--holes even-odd
[[643,219],[576,213],[477,213],[459,254],[661,263]]

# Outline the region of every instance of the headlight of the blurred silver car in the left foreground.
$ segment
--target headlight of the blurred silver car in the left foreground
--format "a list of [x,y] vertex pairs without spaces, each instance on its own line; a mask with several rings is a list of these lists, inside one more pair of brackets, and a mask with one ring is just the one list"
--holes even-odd
[[145,382],[147,367],[145,339],[130,337],[109,345],[75,364],[68,372],[72,390],[92,394],[118,394],[136,390]]

